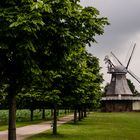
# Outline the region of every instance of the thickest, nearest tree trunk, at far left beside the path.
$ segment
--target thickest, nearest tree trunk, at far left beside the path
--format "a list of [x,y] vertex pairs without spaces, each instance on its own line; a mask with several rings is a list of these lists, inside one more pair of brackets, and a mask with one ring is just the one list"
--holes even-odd
[[16,140],[16,94],[9,92],[8,140]]

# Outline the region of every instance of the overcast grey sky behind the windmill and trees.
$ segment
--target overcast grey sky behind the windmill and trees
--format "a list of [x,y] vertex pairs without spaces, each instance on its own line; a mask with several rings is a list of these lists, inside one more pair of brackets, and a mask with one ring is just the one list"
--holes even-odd
[[[92,44],[89,48],[89,52],[100,58],[105,83],[110,82],[110,76],[107,74],[104,57],[112,51],[125,64],[130,47],[134,43],[136,49],[129,69],[140,77],[140,0],[81,0],[81,4],[97,8],[111,24],[106,26],[102,36],[97,37],[98,44]],[[140,84],[129,74],[127,78],[131,79],[136,89],[140,91]]]

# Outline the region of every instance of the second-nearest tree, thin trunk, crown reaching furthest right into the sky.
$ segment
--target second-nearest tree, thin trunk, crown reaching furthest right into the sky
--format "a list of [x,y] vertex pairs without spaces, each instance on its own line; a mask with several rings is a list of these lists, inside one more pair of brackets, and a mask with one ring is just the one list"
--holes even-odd
[[[51,5],[51,12],[42,13],[45,25],[37,34],[39,40],[34,42],[35,45],[41,44],[35,56],[40,58],[39,67],[44,75],[46,70],[56,75],[51,78],[51,84],[46,87],[46,91],[43,91],[46,97],[51,98],[54,110],[56,110],[63,94],[63,82],[60,81],[63,81],[62,72],[66,72],[63,66],[67,64],[65,63],[67,57],[72,50],[85,49],[86,44],[95,42],[95,35],[103,34],[103,28],[108,22],[106,18],[98,17],[99,12],[95,8],[83,8],[78,2],[75,3],[72,0],[53,0],[47,3]],[[48,50],[45,50],[46,46]],[[43,52],[45,52],[44,55],[42,55]],[[56,116],[54,118],[56,122]],[[53,128],[55,127],[56,123]],[[55,134],[56,130],[53,130]]]

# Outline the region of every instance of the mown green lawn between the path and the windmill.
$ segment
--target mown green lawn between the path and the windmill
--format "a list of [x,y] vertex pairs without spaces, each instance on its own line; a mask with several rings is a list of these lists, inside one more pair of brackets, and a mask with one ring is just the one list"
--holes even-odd
[[77,125],[68,123],[27,140],[140,140],[140,113],[91,113]]

